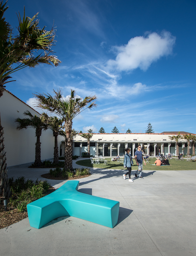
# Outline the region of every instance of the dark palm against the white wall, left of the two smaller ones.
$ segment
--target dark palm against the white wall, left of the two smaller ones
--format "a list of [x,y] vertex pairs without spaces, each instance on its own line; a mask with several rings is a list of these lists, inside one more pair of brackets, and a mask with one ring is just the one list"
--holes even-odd
[[32,127],[36,129],[36,153],[35,153],[35,166],[41,165],[41,142],[40,142],[40,136],[42,134],[42,129],[47,129],[47,124],[43,123],[40,117],[37,117],[36,115],[33,116],[28,110],[24,112],[25,116],[28,116],[28,118],[17,118],[15,119],[15,123],[17,124],[17,130],[23,130],[27,129],[28,127]]

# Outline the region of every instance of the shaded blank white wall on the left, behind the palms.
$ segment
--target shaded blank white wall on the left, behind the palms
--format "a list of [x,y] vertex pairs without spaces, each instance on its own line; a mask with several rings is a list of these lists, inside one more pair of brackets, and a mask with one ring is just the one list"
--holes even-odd
[[[4,127],[4,144],[6,151],[7,166],[14,166],[35,161],[35,129],[27,128],[16,130],[14,120],[17,117],[25,118],[23,113],[28,110],[32,115],[40,116],[35,110],[20,101],[13,94],[4,91],[0,98],[1,124]],[[58,139],[60,146],[61,139]],[[43,131],[40,137],[41,159],[53,158],[55,139],[52,131]]]

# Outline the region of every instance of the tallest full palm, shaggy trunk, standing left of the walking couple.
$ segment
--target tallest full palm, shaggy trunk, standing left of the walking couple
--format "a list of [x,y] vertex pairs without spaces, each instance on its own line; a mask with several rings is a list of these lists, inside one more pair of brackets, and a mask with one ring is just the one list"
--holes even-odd
[[66,132],[66,152],[65,152],[65,168],[73,170],[72,167],[72,120],[78,114],[85,109],[92,109],[96,107],[95,100],[96,95],[86,96],[84,99],[77,97],[75,90],[71,90],[71,95],[64,99],[62,97],[62,91],[54,90],[55,96],[52,97],[50,94],[34,94],[37,97],[38,107],[47,109],[52,113],[56,113],[59,117],[64,120],[64,126]]

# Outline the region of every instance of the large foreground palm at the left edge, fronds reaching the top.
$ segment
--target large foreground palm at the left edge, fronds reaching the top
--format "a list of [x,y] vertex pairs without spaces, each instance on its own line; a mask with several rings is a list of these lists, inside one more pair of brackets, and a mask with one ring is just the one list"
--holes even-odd
[[[56,56],[49,55],[52,52],[51,47],[55,43],[55,29],[51,29],[51,31],[46,31],[45,27],[40,29],[39,21],[36,20],[38,13],[32,18],[28,18],[25,17],[24,11],[23,20],[19,13],[19,33],[15,36],[11,26],[3,17],[8,8],[5,7],[6,3],[0,2],[0,97],[5,90],[5,84],[15,81],[7,81],[13,72],[25,67],[35,67],[40,63],[54,64],[55,66],[61,63]],[[7,177],[3,133],[0,116],[0,197],[9,198],[11,192]]]

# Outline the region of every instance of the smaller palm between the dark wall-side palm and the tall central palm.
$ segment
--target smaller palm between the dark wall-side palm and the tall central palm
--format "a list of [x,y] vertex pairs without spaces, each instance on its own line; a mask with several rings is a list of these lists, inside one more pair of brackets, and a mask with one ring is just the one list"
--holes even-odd
[[47,124],[47,127],[53,132],[53,136],[55,137],[53,163],[58,164],[58,135],[62,129],[63,119],[59,119],[58,117],[49,117],[46,113],[43,113],[41,120],[43,123]]

